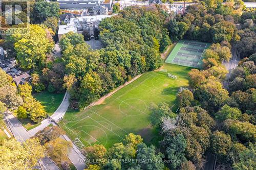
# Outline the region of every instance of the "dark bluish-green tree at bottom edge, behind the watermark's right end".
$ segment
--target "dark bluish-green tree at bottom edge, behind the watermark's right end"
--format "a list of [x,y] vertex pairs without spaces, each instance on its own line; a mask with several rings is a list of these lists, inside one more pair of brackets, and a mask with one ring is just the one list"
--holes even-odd
[[181,162],[186,161],[184,154],[186,145],[186,139],[182,134],[178,134],[173,139],[170,139],[165,153],[169,160],[176,160],[174,163],[169,164],[170,168],[175,169],[181,165]]

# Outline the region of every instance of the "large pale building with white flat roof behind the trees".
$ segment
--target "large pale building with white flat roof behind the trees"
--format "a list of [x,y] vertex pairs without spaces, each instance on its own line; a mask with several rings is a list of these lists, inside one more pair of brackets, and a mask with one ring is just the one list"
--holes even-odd
[[98,28],[99,22],[107,17],[111,17],[113,15],[93,15],[93,16],[81,16],[77,18],[71,18],[70,23],[67,25],[60,25],[58,31],[59,41],[63,34],[67,34],[72,31],[74,33],[83,34],[84,31],[88,31],[90,37],[94,37],[94,29]]

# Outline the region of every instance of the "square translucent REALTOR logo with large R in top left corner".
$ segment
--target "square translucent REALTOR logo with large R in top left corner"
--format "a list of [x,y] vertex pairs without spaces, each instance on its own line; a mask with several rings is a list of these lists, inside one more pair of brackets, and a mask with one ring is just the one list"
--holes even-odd
[[7,33],[10,28],[27,28],[29,26],[29,0],[0,0],[0,6],[0,30],[2,34]]

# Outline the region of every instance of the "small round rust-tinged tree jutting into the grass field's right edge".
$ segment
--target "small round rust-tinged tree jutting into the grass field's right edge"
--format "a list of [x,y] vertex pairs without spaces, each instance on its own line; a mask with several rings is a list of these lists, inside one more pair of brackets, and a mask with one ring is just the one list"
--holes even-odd
[[194,103],[194,95],[189,90],[183,90],[177,94],[177,101],[179,107],[191,106]]

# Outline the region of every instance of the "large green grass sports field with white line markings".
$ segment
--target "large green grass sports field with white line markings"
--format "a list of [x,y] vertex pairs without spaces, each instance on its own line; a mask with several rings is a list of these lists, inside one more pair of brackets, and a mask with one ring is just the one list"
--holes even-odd
[[[97,106],[80,112],[69,110],[60,126],[74,141],[84,145],[101,143],[106,148],[120,142],[126,134],[140,134],[146,143],[157,143],[157,132],[150,124],[150,106],[168,103],[176,111],[176,92],[188,85],[189,67],[165,63],[167,72],[146,72]],[[172,79],[170,73],[177,76]],[[76,139],[77,141],[77,139]],[[79,144],[79,142],[78,142]]]

